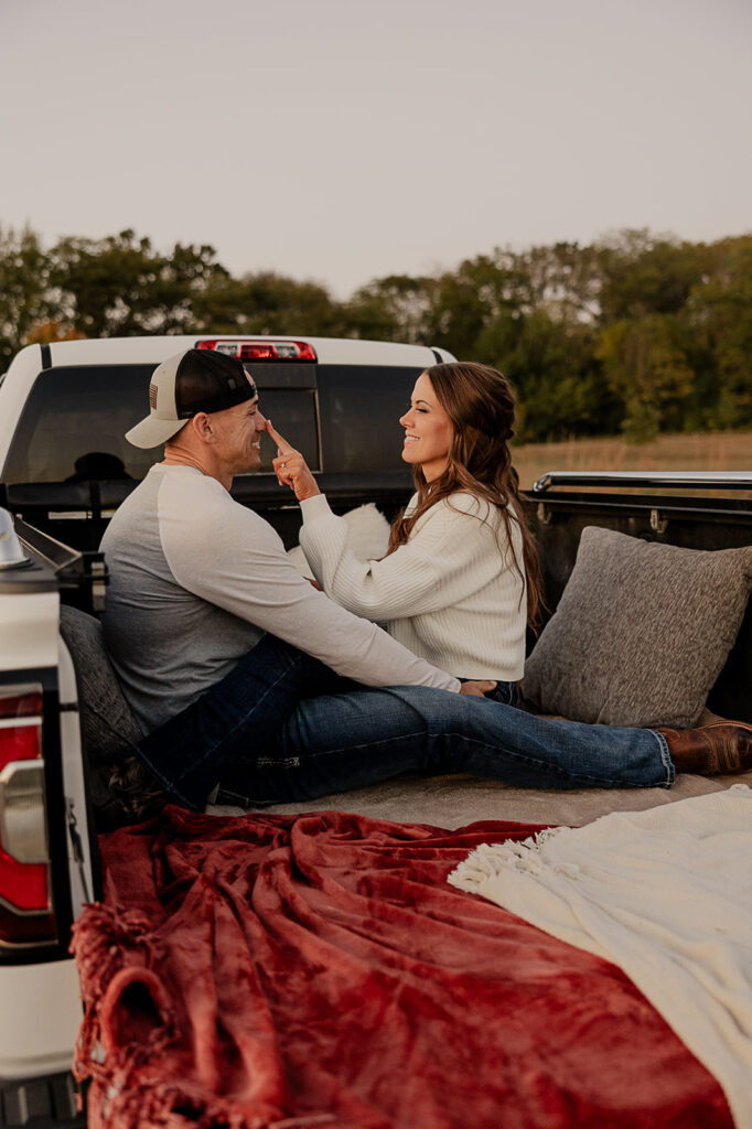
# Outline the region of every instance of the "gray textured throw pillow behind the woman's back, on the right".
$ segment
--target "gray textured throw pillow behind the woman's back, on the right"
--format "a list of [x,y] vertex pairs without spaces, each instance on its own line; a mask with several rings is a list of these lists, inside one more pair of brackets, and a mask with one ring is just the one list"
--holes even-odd
[[693,726],[734,645],[752,548],[703,552],[583,530],[522,694],[575,721]]

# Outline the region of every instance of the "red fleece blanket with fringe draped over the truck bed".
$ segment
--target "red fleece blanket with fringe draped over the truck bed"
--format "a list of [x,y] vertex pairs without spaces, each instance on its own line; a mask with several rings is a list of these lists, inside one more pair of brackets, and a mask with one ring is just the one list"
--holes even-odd
[[446,884],[535,830],[167,808],[103,837],[73,942],[91,1129],[729,1129],[617,968]]

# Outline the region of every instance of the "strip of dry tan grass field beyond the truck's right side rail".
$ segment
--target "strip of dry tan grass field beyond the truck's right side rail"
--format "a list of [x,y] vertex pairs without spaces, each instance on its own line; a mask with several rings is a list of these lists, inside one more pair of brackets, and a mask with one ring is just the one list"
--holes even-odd
[[531,443],[513,448],[522,487],[546,471],[752,471],[752,431],[663,435],[636,446],[620,438]]

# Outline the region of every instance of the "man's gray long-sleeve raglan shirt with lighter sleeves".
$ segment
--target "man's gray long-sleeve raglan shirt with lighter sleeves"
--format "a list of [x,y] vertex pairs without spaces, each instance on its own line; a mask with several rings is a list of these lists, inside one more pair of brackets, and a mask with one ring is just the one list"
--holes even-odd
[[102,541],[105,639],[145,733],[222,679],[265,631],[365,685],[460,683],[316,592],[274,530],[191,466],[152,466]]

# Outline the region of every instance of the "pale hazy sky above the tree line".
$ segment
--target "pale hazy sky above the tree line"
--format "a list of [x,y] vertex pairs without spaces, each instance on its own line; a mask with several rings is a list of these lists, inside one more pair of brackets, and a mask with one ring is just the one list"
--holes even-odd
[[0,226],[338,298],[752,230],[751,0],[0,0]]

